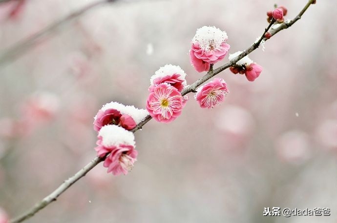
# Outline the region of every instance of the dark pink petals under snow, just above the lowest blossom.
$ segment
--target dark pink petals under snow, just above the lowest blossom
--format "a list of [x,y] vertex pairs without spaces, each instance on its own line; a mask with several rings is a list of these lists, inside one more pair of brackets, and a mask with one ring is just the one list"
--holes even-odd
[[95,121],[94,121],[94,129],[95,131],[100,131],[102,126],[108,124],[121,125],[126,130],[131,130],[136,127],[136,122],[129,115],[122,115],[119,111],[113,108],[109,108],[104,110],[99,110]]

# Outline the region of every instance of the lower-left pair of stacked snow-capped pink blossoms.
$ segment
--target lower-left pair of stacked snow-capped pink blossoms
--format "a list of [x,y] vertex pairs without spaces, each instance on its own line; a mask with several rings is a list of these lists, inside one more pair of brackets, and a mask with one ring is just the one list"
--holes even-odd
[[145,109],[110,102],[95,116],[94,129],[98,132],[97,156],[107,157],[103,165],[113,175],[127,174],[137,160],[134,135],[128,131],[136,127],[148,115]]

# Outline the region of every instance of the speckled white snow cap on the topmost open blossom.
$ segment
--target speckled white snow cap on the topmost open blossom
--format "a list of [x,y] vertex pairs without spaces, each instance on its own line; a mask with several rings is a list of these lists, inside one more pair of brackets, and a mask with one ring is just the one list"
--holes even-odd
[[192,43],[198,43],[199,47],[205,51],[220,50],[221,44],[227,39],[228,36],[225,31],[215,26],[203,26],[197,29]]

